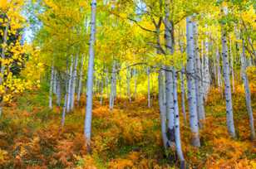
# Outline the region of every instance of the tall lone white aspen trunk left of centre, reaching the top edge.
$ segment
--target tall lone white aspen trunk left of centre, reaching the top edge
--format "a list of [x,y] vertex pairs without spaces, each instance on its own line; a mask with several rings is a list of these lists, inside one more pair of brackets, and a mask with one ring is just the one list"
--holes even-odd
[[87,75],[87,91],[86,91],[86,119],[85,119],[85,138],[86,150],[91,152],[91,116],[92,116],[92,90],[93,90],[93,69],[95,56],[96,41],[96,0],[91,1],[91,37],[89,47],[89,65]]

